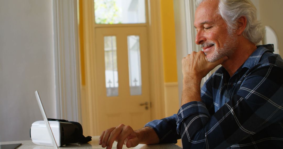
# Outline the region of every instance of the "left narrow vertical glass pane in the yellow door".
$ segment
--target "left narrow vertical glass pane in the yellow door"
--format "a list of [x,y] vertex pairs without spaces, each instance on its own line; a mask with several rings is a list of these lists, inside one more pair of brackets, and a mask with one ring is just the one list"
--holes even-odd
[[116,36],[104,37],[105,84],[107,96],[118,96]]

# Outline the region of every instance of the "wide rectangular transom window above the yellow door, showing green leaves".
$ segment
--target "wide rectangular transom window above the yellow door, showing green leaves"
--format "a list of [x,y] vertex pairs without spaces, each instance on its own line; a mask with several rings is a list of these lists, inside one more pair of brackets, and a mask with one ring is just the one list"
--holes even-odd
[[94,0],[96,24],[145,23],[145,0]]

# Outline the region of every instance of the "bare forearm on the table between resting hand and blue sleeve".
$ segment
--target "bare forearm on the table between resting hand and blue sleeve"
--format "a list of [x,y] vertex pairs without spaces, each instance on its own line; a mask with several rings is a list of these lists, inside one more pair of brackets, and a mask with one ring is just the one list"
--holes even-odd
[[151,127],[144,127],[139,130],[135,130],[139,144],[157,144],[159,143],[159,138],[156,132]]

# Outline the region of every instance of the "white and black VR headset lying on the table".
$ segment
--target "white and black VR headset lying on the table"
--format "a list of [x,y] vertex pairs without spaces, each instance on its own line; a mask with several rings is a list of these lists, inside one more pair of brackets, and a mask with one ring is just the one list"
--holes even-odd
[[[68,120],[48,119],[57,146],[69,143],[87,143],[91,136],[83,136],[82,125]],[[30,137],[34,144],[53,146],[50,135],[43,120],[33,122],[30,129]]]

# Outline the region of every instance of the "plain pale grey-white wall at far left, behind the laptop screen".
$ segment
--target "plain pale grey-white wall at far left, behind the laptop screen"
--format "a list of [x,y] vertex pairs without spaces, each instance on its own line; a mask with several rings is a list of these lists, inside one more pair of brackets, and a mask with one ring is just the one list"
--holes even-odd
[[51,0],[0,0],[0,141],[29,140],[42,120],[34,91],[47,117],[54,117]]

